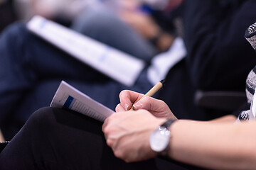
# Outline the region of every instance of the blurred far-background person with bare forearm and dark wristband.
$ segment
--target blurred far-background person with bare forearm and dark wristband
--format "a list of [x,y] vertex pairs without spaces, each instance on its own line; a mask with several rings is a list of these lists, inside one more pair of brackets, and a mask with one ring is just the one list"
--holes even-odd
[[[164,52],[177,36],[175,21],[181,20],[183,6],[179,1],[120,1],[117,13],[124,23],[132,26],[146,40],[149,40],[158,52]],[[179,35],[181,36],[181,35]]]

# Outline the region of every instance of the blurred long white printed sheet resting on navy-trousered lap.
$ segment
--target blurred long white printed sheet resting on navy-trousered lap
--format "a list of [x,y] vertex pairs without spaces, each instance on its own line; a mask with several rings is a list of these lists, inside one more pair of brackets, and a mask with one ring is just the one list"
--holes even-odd
[[145,67],[143,60],[41,16],[34,16],[27,23],[27,28],[76,59],[126,86],[132,86]]

